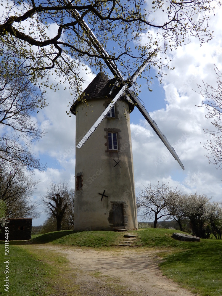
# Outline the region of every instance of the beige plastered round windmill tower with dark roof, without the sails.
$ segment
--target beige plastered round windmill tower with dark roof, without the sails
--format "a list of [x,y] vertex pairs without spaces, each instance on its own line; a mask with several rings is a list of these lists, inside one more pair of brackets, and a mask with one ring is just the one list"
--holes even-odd
[[[113,80],[100,72],[85,90],[89,107],[83,108],[81,102],[73,104],[76,144],[112,101],[109,96],[112,85]],[[120,99],[115,104],[115,117],[105,118],[84,146],[76,148],[74,229],[77,231],[138,229],[130,108],[133,109],[127,100]],[[110,134],[113,134],[112,149]]]

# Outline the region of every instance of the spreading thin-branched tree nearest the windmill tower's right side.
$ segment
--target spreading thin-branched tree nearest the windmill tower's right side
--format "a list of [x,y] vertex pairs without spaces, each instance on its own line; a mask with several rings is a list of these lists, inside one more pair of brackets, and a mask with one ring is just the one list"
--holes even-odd
[[170,187],[169,184],[150,185],[141,191],[137,197],[137,205],[142,208],[143,218],[154,218],[154,226],[157,227],[157,221],[160,218],[171,215],[168,205],[174,196],[178,195],[177,189]]

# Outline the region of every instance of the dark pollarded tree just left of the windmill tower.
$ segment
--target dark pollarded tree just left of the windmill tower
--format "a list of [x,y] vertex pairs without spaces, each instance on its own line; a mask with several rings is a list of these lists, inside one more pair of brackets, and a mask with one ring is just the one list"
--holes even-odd
[[46,207],[46,212],[53,215],[57,221],[57,231],[62,229],[62,220],[68,208],[71,206],[72,190],[70,186],[64,182],[52,181],[47,188],[46,194],[42,197],[42,201]]

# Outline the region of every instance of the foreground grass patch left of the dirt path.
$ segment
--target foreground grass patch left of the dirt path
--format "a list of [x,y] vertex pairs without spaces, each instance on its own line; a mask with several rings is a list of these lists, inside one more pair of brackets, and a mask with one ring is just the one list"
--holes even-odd
[[[68,267],[68,260],[56,252],[36,249],[35,245],[9,245],[9,292],[4,291],[4,269],[0,273],[0,295],[9,296],[80,296],[75,284],[76,271]],[[0,245],[4,263],[4,245]],[[4,268],[4,264],[1,264]]]

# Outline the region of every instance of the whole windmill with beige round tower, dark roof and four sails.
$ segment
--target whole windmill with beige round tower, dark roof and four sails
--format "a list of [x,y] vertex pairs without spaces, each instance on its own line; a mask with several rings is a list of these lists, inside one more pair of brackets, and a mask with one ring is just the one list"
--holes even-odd
[[[137,229],[129,113],[136,106],[171,155],[178,155],[130,87],[144,71],[148,61],[124,81],[114,62],[108,59],[96,36],[73,10],[73,16],[115,78],[100,72],[85,89],[88,110],[76,100],[75,230]],[[90,110],[93,109],[93,112]],[[87,113],[87,116],[84,116]],[[102,113],[102,114],[101,114]],[[124,115],[125,114],[125,115]],[[95,132],[93,137],[91,135]],[[87,142],[86,145],[84,145]],[[81,149],[80,149],[81,148]]]

